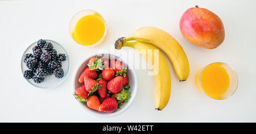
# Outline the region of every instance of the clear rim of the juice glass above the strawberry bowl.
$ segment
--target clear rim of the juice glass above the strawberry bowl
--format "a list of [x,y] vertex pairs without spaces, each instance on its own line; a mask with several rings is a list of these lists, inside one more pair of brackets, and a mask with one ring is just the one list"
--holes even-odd
[[[101,18],[102,18],[103,21],[104,21],[104,26],[105,26],[104,35],[101,37],[100,40],[97,41],[97,43],[94,43],[94,44],[92,44],[92,45],[83,45],[83,44],[78,43],[78,42],[73,38],[72,33],[71,33],[71,22],[72,22],[72,20],[75,18],[75,16],[76,16],[77,14],[79,14],[80,12],[83,12],[83,11],[92,11],[92,12],[95,12],[95,13],[97,13],[98,15],[100,15]],[[86,16],[86,15],[84,15],[84,16]],[[80,19],[81,19],[81,18],[80,18]],[[107,26],[106,26],[106,22],[105,22],[104,17],[103,17],[99,12],[94,11],[94,10],[91,10],[91,9],[85,9],[85,10],[81,10],[81,11],[77,12],[75,15],[73,15],[73,17],[71,18],[71,20],[70,20],[70,22],[69,22],[69,35],[71,36],[71,38],[73,39],[73,41],[75,41],[77,44],[82,45],[82,46],[84,46],[84,47],[94,47],[94,46],[99,45],[99,44],[101,43],[101,41],[105,39],[107,30],[108,30],[108,28],[107,28]]]

